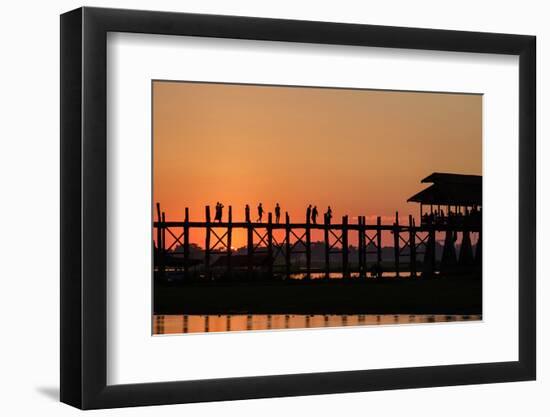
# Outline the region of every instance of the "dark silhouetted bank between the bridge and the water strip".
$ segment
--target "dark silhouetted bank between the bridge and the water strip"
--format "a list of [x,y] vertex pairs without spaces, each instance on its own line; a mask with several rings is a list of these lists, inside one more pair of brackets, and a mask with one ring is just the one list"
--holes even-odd
[[157,283],[155,314],[481,314],[479,278]]

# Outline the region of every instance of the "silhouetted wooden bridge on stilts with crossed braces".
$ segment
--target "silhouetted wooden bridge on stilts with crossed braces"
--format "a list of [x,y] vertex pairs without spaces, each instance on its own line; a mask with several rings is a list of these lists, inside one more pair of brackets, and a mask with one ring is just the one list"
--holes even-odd
[[[381,217],[377,217],[374,224],[367,224],[365,216],[359,216],[356,223],[350,223],[349,217],[343,216],[340,223],[332,223],[330,218],[324,217],[323,223],[313,223],[308,219],[305,223],[292,223],[288,213],[285,213],[283,222],[274,222],[272,213],[268,213],[267,222],[252,222],[249,211],[246,212],[245,221],[234,222],[232,207],[228,207],[226,221],[212,221],[210,207],[205,207],[204,221],[191,221],[189,209],[185,208],[183,221],[168,221],[165,213],[161,211],[157,203],[157,220],[153,223],[156,232],[155,246],[155,270],[163,275],[169,266],[183,271],[184,277],[188,277],[190,270],[196,267],[196,260],[190,257],[190,230],[204,229],[204,260],[201,262],[202,273],[205,277],[212,277],[213,256],[218,256],[215,266],[220,263],[224,266],[224,272],[231,275],[236,270],[243,269],[241,257],[235,254],[232,248],[233,231],[235,229],[246,230],[247,246],[244,269],[252,276],[255,268],[258,268],[258,259],[267,276],[273,276],[275,261],[282,258],[284,263],[283,275],[290,278],[292,274],[303,273],[306,278],[311,278],[312,273],[320,272],[312,268],[312,231],[323,232],[324,265],[321,273],[325,278],[330,273],[341,273],[343,278],[349,278],[351,274],[357,274],[359,278],[365,278],[367,273],[381,276],[382,273],[382,236],[390,233],[393,237],[393,268],[396,277],[401,272],[410,274],[411,277],[432,276],[436,268],[441,271],[450,270],[461,266],[470,268],[481,265],[481,223],[470,221],[468,217],[461,221],[434,222],[426,224],[422,222],[416,225],[415,219],[409,215],[408,224],[399,223],[399,214],[396,212],[392,224],[382,224]],[[221,232],[220,232],[221,230]],[[274,231],[284,231],[284,238],[277,239]],[[436,233],[445,233],[445,244],[440,262],[436,263]],[[458,257],[455,251],[457,234],[462,236]],[[471,233],[478,234],[475,256],[472,250]],[[166,237],[173,239],[167,245]],[[356,257],[350,259],[350,237],[357,237],[358,245],[353,251]],[[183,248],[183,257],[175,260],[173,249],[176,246]],[[296,271],[291,263],[292,256],[301,254],[305,256],[305,268]],[[331,255],[341,256],[339,269],[335,270],[331,265]],[[422,262],[418,258],[422,257]],[[220,262],[220,259],[222,261]],[[236,262],[239,259],[239,262]],[[370,267],[369,267],[370,265]],[[421,270],[418,270],[418,267]]]

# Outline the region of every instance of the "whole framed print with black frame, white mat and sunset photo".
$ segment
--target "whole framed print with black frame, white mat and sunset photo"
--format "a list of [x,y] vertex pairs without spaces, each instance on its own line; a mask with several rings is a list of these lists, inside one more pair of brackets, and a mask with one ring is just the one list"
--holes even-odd
[[535,378],[535,38],[61,16],[61,400]]

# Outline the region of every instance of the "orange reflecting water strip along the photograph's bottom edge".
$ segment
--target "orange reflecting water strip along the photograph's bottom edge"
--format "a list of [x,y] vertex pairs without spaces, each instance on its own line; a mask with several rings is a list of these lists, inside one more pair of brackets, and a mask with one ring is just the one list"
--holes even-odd
[[444,314],[235,314],[155,315],[153,334],[209,333],[252,330],[309,329],[319,327],[479,321],[481,315]]

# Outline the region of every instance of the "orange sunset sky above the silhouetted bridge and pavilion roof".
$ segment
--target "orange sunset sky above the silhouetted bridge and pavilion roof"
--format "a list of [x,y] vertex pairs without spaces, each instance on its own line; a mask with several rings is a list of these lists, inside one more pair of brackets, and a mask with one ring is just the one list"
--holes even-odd
[[406,200],[435,171],[481,174],[481,95],[153,82],[153,201],[167,220],[189,207],[203,221],[217,201],[234,221],[258,202],[296,222],[308,204],[320,218],[330,205],[333,223],[418,219]]

